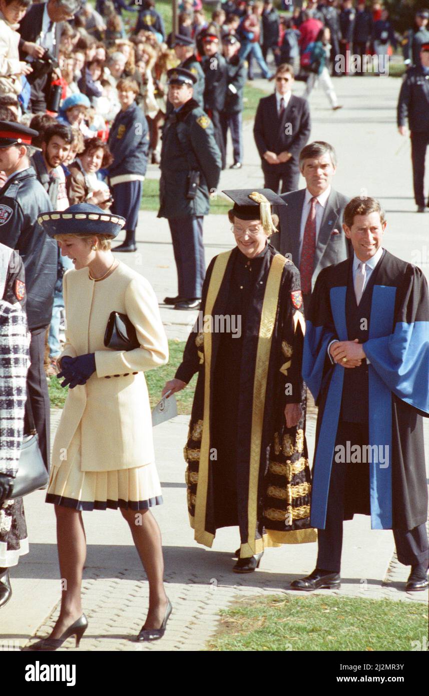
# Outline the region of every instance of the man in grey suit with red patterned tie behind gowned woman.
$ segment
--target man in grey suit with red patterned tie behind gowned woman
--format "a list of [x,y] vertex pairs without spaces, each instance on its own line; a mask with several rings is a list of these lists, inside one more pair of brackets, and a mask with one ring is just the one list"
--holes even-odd
[[300,171],[307,187],[281,196],[280,234],[274,246],[290,258],[301,274],[304,310],[320,271],[350,256],[350,243],[343,232],[343,212],[348,198],[331,186],[337,167],[334,148],[316,141],[300,152]]

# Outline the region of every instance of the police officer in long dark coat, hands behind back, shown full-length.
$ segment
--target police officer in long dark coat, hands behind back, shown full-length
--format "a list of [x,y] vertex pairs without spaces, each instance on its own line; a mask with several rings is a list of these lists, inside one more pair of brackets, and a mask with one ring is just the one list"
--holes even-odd
[[211,120],[193,99],[195,75],[173,68],[167,77],[173,111],[163,130],[158,217],[167,218],[170,226],[178,294],[164,302],[175,309],[197,309],[206,272],[202,223],[209,192],[218,186],[220,152]]

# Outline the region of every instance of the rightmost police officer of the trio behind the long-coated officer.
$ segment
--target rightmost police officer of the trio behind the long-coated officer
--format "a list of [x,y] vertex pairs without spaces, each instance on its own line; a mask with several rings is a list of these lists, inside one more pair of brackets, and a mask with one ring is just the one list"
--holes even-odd
[[243,164],[243,89],[247,79],[248,65],[238,56],[240,42],[234,34],[227,34],[222,41],[227,61],[228,88],[225,107],[220,114],[225,151],[228,129],[231,131],[234,164],[230,169],[240,169]]

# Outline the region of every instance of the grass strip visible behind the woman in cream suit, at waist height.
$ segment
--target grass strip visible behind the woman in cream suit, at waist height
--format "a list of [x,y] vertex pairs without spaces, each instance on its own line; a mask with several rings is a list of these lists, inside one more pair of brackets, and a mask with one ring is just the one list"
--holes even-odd
[[[181,363],[184,347],[184,341],[168,341],[168,348],[170,350],[170,360],[168,365],[162,365],[162,367],[157,367],[156,370],[148,370],[148,372],[145,372],[147,389],[149,390],[149,400],[152,409],[161,398],[161,391],[163,390],[165,382],[175,376],[177,367],[179,367]],[[176,399],[178,413],[191,413],[196,381],[197,375],[195,374],[188,386],[181,392],[177,393]],[[52,408],[62,409],[64,406],[65,397],[67,396],[68,387],[63,388],[60,386],[60,381],[58,381],[56,377],[51,377],[48,379],[48,386]]]

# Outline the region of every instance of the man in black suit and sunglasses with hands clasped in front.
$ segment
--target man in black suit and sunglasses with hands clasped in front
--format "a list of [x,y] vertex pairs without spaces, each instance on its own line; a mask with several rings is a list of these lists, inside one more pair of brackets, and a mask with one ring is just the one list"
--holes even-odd
[[254,118],[253,135],[261,156],[264,188],[275,193],[298,188],[298,156],[311,130],[309,104],[292,94],[292,86],[293,68],[282,63],[275,73],[275,93],[262,97]]

